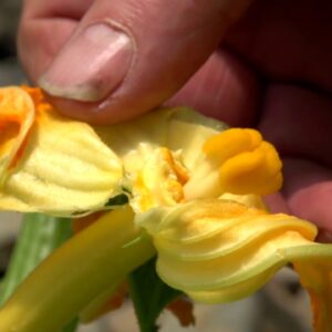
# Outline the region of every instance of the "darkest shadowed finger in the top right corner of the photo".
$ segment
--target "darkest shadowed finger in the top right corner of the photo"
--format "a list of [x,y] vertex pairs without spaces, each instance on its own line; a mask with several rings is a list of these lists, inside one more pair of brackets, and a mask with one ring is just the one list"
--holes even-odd
[[227,41],[269,77],[332,91],[331,14],[330,0],[258,0]]

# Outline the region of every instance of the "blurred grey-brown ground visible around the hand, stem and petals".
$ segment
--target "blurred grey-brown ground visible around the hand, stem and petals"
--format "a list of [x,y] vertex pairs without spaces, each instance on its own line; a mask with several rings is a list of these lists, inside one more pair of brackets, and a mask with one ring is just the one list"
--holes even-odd
[[[116,1],[116,0],[114,0]],[[20,0],[0,0],[0,85],[27,82],[20,69],[15,35],[20,15]],[[0,133],[1,135],[1,133]],[[6,273],[15,237],[19,214],[0,212],[0,276]],[[166,312],[160,318],[162,332],[309,332],[311,314],[307,293],[299,287],[291,269],[283,269],[257,294],[227,305],[196,305],[196,325],[180,328]],[[80,332],[135,332],[136,319],[129,302]]]

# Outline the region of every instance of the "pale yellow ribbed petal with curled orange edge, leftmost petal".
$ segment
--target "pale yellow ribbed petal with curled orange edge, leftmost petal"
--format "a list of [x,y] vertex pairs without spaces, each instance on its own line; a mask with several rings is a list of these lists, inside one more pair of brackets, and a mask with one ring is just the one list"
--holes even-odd
[[15,89],[6,105],[28,100],[35,118],[24,145],[12,144],[14,152],[19,143],[23,149],[6,172],[0,208],[65,216],[103,208],[122,190],[122,162],[91,126],[56,114],[38,90],[29,92],[30,101]]

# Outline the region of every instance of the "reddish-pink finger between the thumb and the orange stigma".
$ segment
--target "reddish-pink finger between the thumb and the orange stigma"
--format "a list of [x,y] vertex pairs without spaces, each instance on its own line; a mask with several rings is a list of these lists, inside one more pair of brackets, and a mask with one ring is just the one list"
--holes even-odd
[[215,52],[167,105],[186,105],[232,126],[253,126],[260,84],[228,51]]

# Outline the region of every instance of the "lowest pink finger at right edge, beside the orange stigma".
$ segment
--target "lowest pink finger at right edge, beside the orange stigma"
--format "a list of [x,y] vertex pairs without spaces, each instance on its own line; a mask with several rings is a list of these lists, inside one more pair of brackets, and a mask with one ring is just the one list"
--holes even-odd
[[332,232],[332,172],[303,159],[284,160],[283,194],[291,212]]

